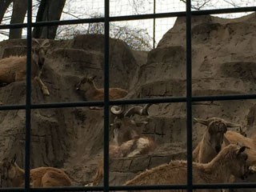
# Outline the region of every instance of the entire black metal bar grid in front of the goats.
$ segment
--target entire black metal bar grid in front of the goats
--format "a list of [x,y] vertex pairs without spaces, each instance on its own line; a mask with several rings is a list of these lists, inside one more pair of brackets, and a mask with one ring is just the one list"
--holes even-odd
[[[27,0],[28,14],[27,23],[2,25],[1,29],[23,28],[27,29],[27,64],[26,64],[26,104],[25,105],[6,105],[0,106],[0,110],[26,110],[26,156],[25,156],[25,187],[24,188],[1,188],[0,191],[84,191],[84,190],[173,190],[184,189],[192,191],[193,189],[212,189],[212,188],[255,188],[256,183],[231,183],[231,184],[193,184],[192,182],[192,102],[195,101],[220,101],[220,100],[238,100],[255,99],[256,94],[229,94],[214,96],[192,97],[192,65],[191,65],[191,17],[193,15],[205,14],[226,14],[239,13],[246,11],[256,11],[256,6],[242,7],[221,10],[197,10],[191,11],[190,0],[186,1],[186,11],[170,12],[161,14],[142,14],[130,16],[110,17],[110,2],[105,0],[104,18],[85,18],[77,20],[50,21],[50,22],[32,22],[32,0]],[[109,32],[110,22],[131,21],[136,19],[149,18],[169,18],[186,17],[186,97],[167,97],[167,98],[141,98],[129,100],[109,100]],[[104,101],[101,102],[57,102],[57,103],[31,103],[31,30],[37,26],[58,26],[73,25],[90,22],[104,22],[105,26],[105,65],[104,65]],[[186,102],[187,117],[187,184],[186,185],[154,185],[154,186],[109,186],[109,107],[110,105],[121,104],[145,104],[145,103],[163,103],[163,102]],[[63,108],[76,106],[102,106],[104,105],[104,185],[103,186],[70,186],[70,187],[45,187],[30,188],[30,118],[32,109],[43,108]]]

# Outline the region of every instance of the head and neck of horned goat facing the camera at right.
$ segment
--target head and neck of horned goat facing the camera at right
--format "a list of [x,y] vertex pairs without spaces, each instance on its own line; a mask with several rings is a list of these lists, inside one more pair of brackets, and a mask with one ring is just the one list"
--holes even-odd
[[226,122],[222,118],[208,118],[207,120],[194,118],[195,122],[207,126],[205,133],[202,136],[201,142],[193,151],[194,162],[210,162],[222,149],[224,134],[227,127],[237,127],[238,124]]

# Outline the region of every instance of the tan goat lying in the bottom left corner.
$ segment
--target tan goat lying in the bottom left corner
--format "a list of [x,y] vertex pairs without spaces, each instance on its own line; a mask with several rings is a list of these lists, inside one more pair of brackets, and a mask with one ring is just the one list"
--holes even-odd
[[[16,155],[9,162],[0,163],[1,179],[7,186],[22,187],[25,183],[25,172],[16,163]],[[70,178],[64,171],[54,167],[38,167],[30,170],[30,186],[71,186]]]

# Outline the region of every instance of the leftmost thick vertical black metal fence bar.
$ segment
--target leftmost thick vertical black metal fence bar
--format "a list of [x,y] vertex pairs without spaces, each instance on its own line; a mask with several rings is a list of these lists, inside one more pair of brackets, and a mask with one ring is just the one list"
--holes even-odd
[[27,0],[26,37],[26,144],[25,144],[25,191],[30,191],[30,115],[31,115],[31,44],[32,0]]

